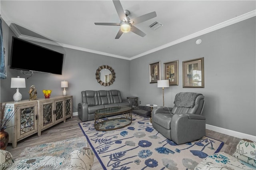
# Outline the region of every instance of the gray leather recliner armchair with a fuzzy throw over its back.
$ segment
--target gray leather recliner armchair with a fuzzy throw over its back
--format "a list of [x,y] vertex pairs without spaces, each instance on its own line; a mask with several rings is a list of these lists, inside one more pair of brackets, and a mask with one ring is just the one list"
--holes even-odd
[[173,108],[164,106],[152,110],[152,125],[176,144],[192,142],[205,136],[203,109],[204,95],[181,92],[176,94]]

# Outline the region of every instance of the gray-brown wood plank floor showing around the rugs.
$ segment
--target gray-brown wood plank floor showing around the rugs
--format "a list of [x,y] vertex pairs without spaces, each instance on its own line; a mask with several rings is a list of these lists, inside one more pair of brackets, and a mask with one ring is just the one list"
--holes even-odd
[[[78,116],[73,116],[73,118],[68,118],[66,123],[62,122],[42,131],[41,136],[33,134],[28,138],[20,140],[16,148],[12,148],[12,144],[9,143],[6,150],[8,150],[15,159],[26,147],[84,136],[82,130],[78,126],[78,123],[80,122],[81,120]],[[206,136],[223,141],[224,146],[220,152],[226,152],[228,154],[233,154],[235,152],[236,145],[241,140],[240,138],[214,132],[208,129],[206,129]]]

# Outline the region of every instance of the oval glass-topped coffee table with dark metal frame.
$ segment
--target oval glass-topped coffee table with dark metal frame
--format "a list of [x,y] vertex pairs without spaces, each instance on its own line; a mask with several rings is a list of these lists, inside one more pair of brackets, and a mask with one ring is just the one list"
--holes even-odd
[[[121,115],[122,114],[122,115]],[[114,116],[115,117],[109,117]],[[115,130],[132,123],[132,107],[120,106],[100,109],[94,115],[94,128],[96,130]]]

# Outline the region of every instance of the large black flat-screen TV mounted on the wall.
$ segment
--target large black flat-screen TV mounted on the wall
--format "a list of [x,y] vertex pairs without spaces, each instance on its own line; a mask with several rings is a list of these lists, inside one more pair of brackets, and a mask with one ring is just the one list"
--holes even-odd
[[62,74],[63,54],[12,37],[10,68]]

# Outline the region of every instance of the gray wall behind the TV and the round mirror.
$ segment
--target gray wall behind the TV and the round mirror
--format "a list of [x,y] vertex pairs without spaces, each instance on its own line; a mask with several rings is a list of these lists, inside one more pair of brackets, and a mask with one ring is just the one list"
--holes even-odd
[[[4,47],[6,51],[6,71],[7,79],[1,80],[1,102],[13,101],[12,96],[16,93],[16,89],[10,88],[11,77],[20,76],[26,78],[26,88],[21,88],[20,93],[22,99],[29,99],[28,89],[31,85],[35,85],[38,91],[38,98],[43,98],[43,89],[52,90],[51,96],[62,95],[63,88],[60,87],[61,81],[68,81],[68,88],[66,88],[67,95],[73,95],[73,112],[77,112],[77,105],[82,101],[81,91],[83,90],[110,90],[118,89],[121,91],[121,95],[124,99],[129,96],[129,78],[130,78],[130,61],[124,59],[118,59],[114,57],[98,55],[94,53],[88,53],[85,51],[78,51],[75,49],[69,49],[59,47],[55,45],[49,45],[44,43],[32,42],[43,47],[53,49],[60,53],[64,53],[64,63],[62,69],[62,75],[54,75],[48,73],[34,72],[32,77],[30,75],[24,75],[18,70],[10,69],[8,60],[11,54],[12,36],[14,33],[6,23],[2,23],[4,34]],[[22,55],[26,55],[21,54]],[[38,61],[35,57],[35,61],[30,64],[36,64],[36,62],[48,62]],[[96,80],[96,70],[101,65],[109,65],[116,73],[116,79],[110,86],[102,86]],[[27,77],[29,77],[27,79]]]

